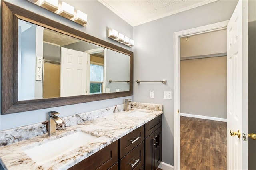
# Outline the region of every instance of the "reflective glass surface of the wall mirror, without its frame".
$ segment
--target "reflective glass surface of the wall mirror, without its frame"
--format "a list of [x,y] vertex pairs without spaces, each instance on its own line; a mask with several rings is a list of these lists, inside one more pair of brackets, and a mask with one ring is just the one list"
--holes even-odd
[[129,91],[129,55],[20,19],[18,45],[19,101]]

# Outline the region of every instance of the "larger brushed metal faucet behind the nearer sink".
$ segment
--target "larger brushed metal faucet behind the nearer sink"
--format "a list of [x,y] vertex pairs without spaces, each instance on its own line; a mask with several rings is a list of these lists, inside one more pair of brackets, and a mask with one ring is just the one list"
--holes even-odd
[[48,134],[54,134],[56,133],[56,124],[62,123],[62,120],[56,116],[59,115],[60,113],[56,111],[51,111],[48,112]]

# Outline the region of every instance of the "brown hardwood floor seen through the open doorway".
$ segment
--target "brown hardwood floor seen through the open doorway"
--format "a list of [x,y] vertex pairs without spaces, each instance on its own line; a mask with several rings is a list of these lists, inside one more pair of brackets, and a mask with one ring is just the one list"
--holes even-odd
[[226,170],[227,123],[181,116],[180,169]]

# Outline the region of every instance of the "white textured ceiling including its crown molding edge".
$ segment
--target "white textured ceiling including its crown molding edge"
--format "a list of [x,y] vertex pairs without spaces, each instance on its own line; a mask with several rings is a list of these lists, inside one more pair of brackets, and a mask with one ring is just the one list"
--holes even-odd
[[131,26],[163,18],[216,0],[98,0]]

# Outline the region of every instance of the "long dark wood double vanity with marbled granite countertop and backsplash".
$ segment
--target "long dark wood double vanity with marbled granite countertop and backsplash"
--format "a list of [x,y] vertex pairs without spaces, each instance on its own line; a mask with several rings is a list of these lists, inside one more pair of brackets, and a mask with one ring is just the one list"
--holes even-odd
[[[10,170],[155,169],[162,152],[162,105],[129,104],[129,111],[117,105],[64,117],[50,136],[47,133],[26,140],[20,136],[22,141],[10,144],[13,140],[6,140],[6,136],[14,137],[10,133],[22,132],[22,128],[25,135],[30,129],[1,131],[7,144],[0,147],[1,164]],[[42,125],[39,129],[45,133],[46,124]]]

